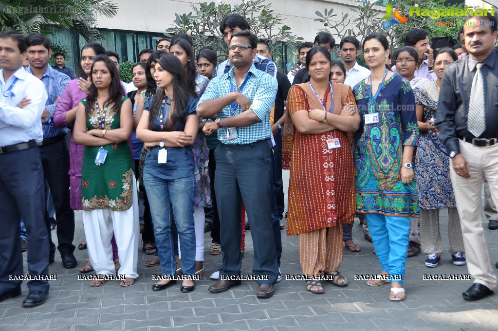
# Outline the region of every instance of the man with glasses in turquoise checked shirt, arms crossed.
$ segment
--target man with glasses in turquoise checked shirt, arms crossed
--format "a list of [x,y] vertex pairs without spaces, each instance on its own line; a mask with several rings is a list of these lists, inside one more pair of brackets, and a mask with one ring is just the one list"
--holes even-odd
[[254,66],[257,38],[249,31],[231,33],[229,56],[232,68],[209,83],[199,100],[197,114],[217,115],[205,123],[207,135],[218,131],[215,150],[215,193],[221,223],[223,265],[220,278],[208,290],[225,292],[240,285],[242,266],[240,221],[246,207],[254,245],[252,274],[256,296],[274,294],[278,264],[271,220],[270,110],[277,83]]

